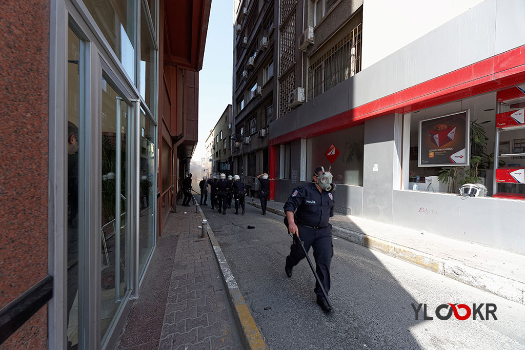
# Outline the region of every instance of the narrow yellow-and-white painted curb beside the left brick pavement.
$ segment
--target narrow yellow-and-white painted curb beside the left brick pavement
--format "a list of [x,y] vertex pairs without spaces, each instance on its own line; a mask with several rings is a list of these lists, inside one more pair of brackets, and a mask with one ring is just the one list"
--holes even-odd
[[[202,219],[207,221],[206,216],[200,207],[199,212],[201,213]],[[217,262],[219,264],[223,282],[228,290],[230,306],[232,306],[232,309],[235,311],[234,314],[236,316],[237,325],[242,331],[241,340],[243,341],[246,349],[266,349],[264,337],[262,337],[260,334],[259,329],[255,324],[255,320],[248,310],[248,306],[246,305],[246,302],[243,298],[243,294],[239,290],[237,281],[235,280],[232,270],[230,270],[228,266],[228,262],[224,257],[222,249],[220,249],[219,243],[215,238],[209,223],[207,225],[207,231],[209,241],[212,243],[213,251],[215,252],[215,257],[217,258]]]

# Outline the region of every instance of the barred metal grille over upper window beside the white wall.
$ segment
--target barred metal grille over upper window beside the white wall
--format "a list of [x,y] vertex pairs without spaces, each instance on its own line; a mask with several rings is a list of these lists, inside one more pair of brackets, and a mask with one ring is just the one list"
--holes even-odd
[[361,24],[308,68],[308,99],[361,71]]

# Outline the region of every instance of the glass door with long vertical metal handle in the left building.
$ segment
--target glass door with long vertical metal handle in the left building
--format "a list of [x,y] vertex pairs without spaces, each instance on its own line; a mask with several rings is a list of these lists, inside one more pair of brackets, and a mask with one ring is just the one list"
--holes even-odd
[[127,218],[131,209],[128,189],[132,187],[132,106],[106,77],[102,77],[101,95],[100,334],[104,340],[130,285],[131,230]]

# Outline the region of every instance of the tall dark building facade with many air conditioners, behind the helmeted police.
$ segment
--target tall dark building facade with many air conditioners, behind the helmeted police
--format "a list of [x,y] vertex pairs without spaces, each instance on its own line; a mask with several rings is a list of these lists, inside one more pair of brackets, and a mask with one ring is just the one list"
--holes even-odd
[[244,0],[236,8],[233,62],[233,173],[251,193],[268,172],[268,126],[274,120],[278,2]]

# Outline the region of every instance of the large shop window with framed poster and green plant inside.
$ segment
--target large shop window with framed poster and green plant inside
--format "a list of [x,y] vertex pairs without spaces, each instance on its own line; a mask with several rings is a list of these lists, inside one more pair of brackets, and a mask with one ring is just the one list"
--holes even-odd
[[[408,127],[409,123],[410,141],[409,159],[404,162],[405,166],[408,163],[409,169],[408,174],[405,173],[404,188],[459,194],[461,185],[479,183],[486,186],[487,195],[491,196],[494,192],[496,160],[496,168],[525,167],[525,157],[509,155],[514,151],[514,141],[525,138],[525,130],[509,128],[510,130],[503,131],[496,128],[498,109],[518,111],[519,103],[509,103],[506,107],[500,107],[497,105],[497,92],[491,92],[405,114],[404,123],[405,127]],[[454,116],[461,111],[468,111],[470,117],[469,120],[463,121],[463,127],[454,120]],[[426,128],[425,123],[428,123]],[[465,142],[466,131],[469,132],[469,139]],[[495,132],[499,133],[499,152],[495,147]],[[495,152],[498,152],[498,155],[495,156]],[[465,163],[468,165],[453,163],[453,159],[458,155],[467,157],[468,162]],[[429,166],[438,157],[445,159],[450,165],[438,161],[435,162],[436,166]],[[496,193],[507,192],[522,195],[525,194],[525,188],[504,182],[496,186]]]

